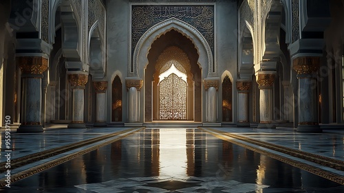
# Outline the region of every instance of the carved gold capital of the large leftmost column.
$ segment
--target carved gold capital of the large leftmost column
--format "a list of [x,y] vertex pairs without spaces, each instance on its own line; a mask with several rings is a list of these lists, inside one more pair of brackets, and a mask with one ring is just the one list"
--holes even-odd
[[47,70],[47,59],[43,57],[17,57],[23,74],[43,74]]

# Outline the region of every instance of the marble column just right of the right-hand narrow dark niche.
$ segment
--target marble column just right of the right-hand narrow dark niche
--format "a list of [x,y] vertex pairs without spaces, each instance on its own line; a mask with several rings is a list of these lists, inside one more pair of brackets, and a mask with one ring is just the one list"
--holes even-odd
[[251,83],[248,81],[237,81],[238,92],[238,127],[250,127],[248,120],[248,94]]

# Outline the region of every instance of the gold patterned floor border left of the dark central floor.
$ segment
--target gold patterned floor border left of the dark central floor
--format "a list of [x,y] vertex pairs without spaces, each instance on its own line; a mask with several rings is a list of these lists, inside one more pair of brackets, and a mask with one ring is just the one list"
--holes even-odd
[[[25,179],[29,176],[32,176],[34,174],[37,174],[39,172],[43,172],[44,170],[48,170],[56,165],[59,165],[61,163],[64,163],[66,161],[69,161],[71,159],[74,159],[78,156],[81,156],[83,154],[86,154],[88,152],[91,152],[93,150],[96,150],[100,147],[103,147],[105,145],[108,145],[110,143],[114,143],[114,141],[118,141],[120,139],[123,139],[125,138],[126,136],[129,136],[131,134],[133,134],[134,132],[138,132],[140,130],[144,129],[144,127],[142,128],[131,128],[129,130],[124,130],[124,131],[121,131],[121,132],[116,132],[116,133],[112,133],[112,134],[107,134],[105,136],[99,136],[99,137],[96,137],[94,139],[87,139],[87,140],[84,140],[84,141],[80,141],[78,143],[72,143],[70,145],[65,145],[63,147],[58,147],[58,148],[54,148],[52,150],[45,150],[43,152],[38,152],[38,153],[35,153],[35,154],[30,154],[28,156],[23,156],[23,157],[20,157],[18,159],[12,159],[11,160],[11,170],[13,170],[14,168],[17,168],[17,167],[21,167],[23,165],[28,165],[29,163],[34,163],[36,161],[41,161],[43,159],[47,159],[49,157],[52,157],[52,156],[56,156],[57,154],[62,154],[64,152],[68,152],[70,150],[74,150],[76,148],[80,148],[80,147],[83,147],[85,145],[89,145],[89,144],[92,144],[92,143],[96,143],[98,141],[103,141],[105,139],[109,139],[111,137],[114,137],[114,136],[119,136],[118,138],[116,139],[112,139],[112,140],[109,140],[105,143],[101,143],[101,144],[98,144],[98,145],[93,145],[92,147],[90,148],[86,148],[85,150],[81,150],[81,151],[78,151],[78,152],[75,152],[75,153],[72,153],[72,154],[68,154],[67,156],[63,156],[59,159],[54,159],[52,161],[48,161],[47,163],[43,163],[41,165],[37,165],[35,167],[31,167],[30,169],[28,170],[24,170],[23,172],[19,172],[17,174],[12,174],[11,175],[11,182],[10,183],[14,183],[15,181],[19,181],[21,179]],[[125,134],[127,133],[127,134]],[[124,135],[121,135],[121,134],[124,134]],[[0,168],[1,168],[1,173],[2,172],[5,172],[5,165],[6,165],[6,162],[1,162],[0,163]],[[6,178],[3,178],[3,179],[0,179],[0,187],[5,187],[6,184],[8,184],[6,181]]]

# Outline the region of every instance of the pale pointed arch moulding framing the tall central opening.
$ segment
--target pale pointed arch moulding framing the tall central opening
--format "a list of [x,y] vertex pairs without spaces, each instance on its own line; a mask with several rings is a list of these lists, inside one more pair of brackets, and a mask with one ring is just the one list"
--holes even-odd
[[207,71],[203,74],[208,74],[208,77],[214,77],[217,74],[215,72],[216,67],[213,65],[213,53],[206,39],[193,26],[175,18],[156,24],[142,35],[133,52],[132,61],[129,60],[131,61],[131,66],[128,68],[128,77],[143,76],[143,70],[149,62],[147,55],[151,48],[151,43],[170,30],[176,30],[188,39],[191,39],[200,56],[197,63],[203,70]]

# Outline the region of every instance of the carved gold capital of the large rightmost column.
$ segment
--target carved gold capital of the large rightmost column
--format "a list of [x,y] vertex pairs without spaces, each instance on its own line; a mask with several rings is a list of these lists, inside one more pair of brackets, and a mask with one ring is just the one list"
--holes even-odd
[[297,74],[311,74],[320,68],[320,57],[299,57],[292,61],[292,68]]

